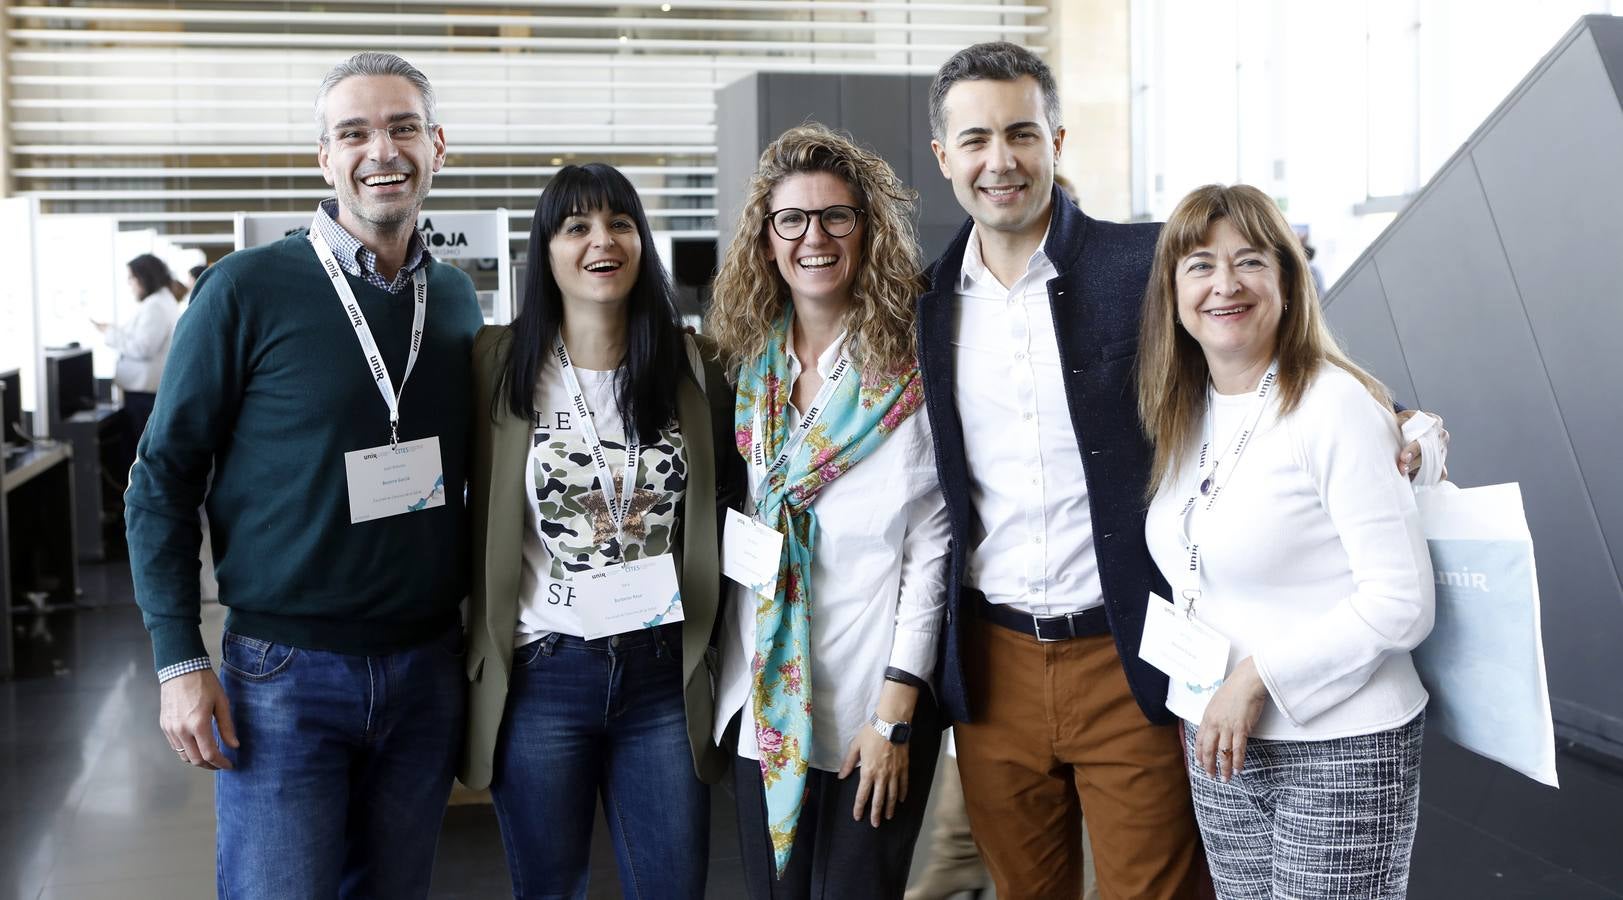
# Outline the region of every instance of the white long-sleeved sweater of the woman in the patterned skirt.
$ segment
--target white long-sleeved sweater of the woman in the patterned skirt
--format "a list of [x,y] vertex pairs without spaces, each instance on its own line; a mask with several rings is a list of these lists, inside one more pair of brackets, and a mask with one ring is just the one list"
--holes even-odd
[[[1217,452],[1251,404],[1250,392],[1214,397]],[[1216,504],[1193,514],[1196,616],[1233,642],[1230,671],[1251,657],[1268,686],[1272,704],[1253,736],[1331,739],[1396,728],[1425,709],[1409,650],[1431,631],[1433,615],[1431,559],[1396,465],[1397,425],[1328,363],[1290,415],[1277,410],[1274,391]],[[1162,485],[1144,524],[1173,594],[1186,587],[1180,521],[1199,482],[1198,452],[1191,448],[1178,477]],[[1177,683],[1167,707],[1199,723],[1201,705]]]

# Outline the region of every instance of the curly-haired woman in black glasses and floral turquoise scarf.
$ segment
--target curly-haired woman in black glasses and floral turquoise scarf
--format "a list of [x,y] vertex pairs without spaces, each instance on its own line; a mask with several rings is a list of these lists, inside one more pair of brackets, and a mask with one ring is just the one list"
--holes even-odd
[[[912,191],[821,125],[761,154],[709,313],[750,467],[716,738],[751,897],[901,897],[940,746],[946,508],[914,350]],[[760,545],[756,545],[760,546]],[[730,568],[730,561],[729,561]],[[725,738],[737,720],[737,738]]]

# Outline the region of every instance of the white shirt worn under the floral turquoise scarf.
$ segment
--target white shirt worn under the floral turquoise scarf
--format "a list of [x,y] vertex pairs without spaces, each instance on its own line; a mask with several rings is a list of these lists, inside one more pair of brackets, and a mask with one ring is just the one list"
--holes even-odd
[[[842,334],[818,358],[828,378]],[[852,373],[854,376],[857,373]],[[800,360],[789,350],[790,384]],[[790,422],[800,412],[790,407]],[[750,478],[747,509],[753,509]],[[885,443],[823,488],[812,550],[812,765],[837,772],[867,728],[885,686],[885,668],[930,681],[946,590],[946,501],[935,475],[930,418],[920,405]],[[751,726],[750,663],[755,657],[755,592],[727,582],[721,629],[716,741],[743,710],[738,756],[760,759]]]

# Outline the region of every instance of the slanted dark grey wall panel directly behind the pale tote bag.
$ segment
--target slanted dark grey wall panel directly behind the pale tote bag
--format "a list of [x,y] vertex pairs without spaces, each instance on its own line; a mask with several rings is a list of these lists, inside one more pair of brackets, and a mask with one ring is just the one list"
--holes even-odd
[[1448,418],[1454,480],[1522,485],[1552,694],[1615,709],[1615,683],[1595,670],[1615,670],[1617,579],[1469,159],[1393,225],[1375,264],[1419,401]]

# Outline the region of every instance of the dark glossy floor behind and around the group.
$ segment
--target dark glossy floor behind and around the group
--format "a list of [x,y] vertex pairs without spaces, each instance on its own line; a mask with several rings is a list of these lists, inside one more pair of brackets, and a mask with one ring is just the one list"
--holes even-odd
[[[104,606],[19,618],[23,671],[0,683],[0,900],[211,897],[211,780],[179,765],[157,735],[128,574],[86,568],[83,581]],[[219,619],[208,611],[209,631]],[[1441,739],[1425,752],[1410,897],[1623,900],[1623,774],[1563,752],[1555,791]],[[709,895],[740,897],[724,786],[712,819]],[[602,829],[592,882],[592,897],[618,897]],[[505,895],[490,808],[451,808],[433,897]]]

